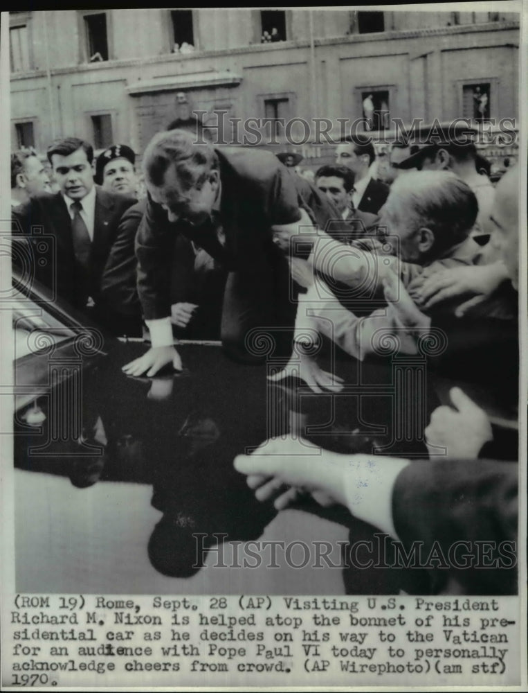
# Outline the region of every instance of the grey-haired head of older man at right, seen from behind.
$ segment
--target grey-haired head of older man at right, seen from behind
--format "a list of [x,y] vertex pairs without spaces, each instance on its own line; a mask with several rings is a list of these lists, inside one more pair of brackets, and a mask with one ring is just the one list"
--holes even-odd
[[448,171],[412,171],[397,178],[381,209],[380,226],[401,258],[426,263],[466,240],[477,218],[475,193]]

